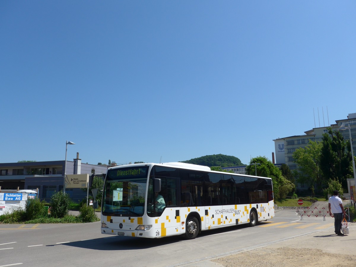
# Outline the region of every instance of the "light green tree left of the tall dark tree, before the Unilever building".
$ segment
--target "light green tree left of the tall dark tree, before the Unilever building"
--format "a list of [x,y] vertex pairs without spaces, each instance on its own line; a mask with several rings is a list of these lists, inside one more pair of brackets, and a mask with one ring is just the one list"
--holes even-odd
[[324,183],[320,167],[322,146],[322,142],[309,140],[309,145],[297,148],[293,153],[294,162],[299,165],[299,172],[296,172],[298,182],[306,182],[309,186],[316,184],[319,192],[321,192]]

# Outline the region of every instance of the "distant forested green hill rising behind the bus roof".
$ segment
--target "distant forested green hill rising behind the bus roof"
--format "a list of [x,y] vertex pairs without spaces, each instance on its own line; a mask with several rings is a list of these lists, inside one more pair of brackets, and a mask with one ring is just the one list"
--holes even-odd
[[203,165],[208,167],[220,166],[220,167],[232,167],[232,166],[242,166],[239,158],[234,156],[226,156],[223,154],[218,155],[207,155],[200,158],[192,158],[188,161],[181,161],[184,163]]

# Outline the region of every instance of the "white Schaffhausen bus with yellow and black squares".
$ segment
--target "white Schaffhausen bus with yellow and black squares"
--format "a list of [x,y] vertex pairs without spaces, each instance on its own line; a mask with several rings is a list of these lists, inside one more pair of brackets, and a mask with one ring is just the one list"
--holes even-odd
[[101,233],[159,238],[271,219],[271,178],[211,171],[194,164],[139,163],[105,175]]

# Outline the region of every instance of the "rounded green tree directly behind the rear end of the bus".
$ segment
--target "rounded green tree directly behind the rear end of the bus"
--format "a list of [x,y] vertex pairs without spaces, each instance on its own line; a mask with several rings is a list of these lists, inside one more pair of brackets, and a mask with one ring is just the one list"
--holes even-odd
[[[281,170],[266,157],[256,157],[251,159],[251,163],[260,163],[260,165],[252,164],[246,167],[247,173],[257,176],[272,178],[273,194],[277,199],[285,198],[294,188],[294,184],[283,177]],[[251,164],[250,163],[250,164]]]

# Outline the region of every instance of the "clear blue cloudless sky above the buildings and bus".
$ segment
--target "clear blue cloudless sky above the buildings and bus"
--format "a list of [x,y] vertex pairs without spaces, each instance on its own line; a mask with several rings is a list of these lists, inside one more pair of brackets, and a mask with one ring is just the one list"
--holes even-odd
[[356,112],[355,1],[0,1],[0,162],[272,159]]

